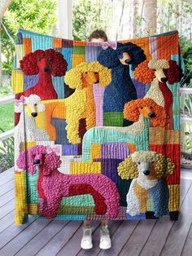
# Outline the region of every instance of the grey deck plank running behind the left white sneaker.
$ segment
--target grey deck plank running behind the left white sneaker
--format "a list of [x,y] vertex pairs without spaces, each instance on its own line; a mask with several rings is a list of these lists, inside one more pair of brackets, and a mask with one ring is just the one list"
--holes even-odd
[[[93,232],[97,229],[99,222],[94,222]],[[63,248],[59,250],[57,256],[61,255],[76,255],[81,250],[81,238],[83,234],[82,226],[76,230],[68,243],[63,245]]]

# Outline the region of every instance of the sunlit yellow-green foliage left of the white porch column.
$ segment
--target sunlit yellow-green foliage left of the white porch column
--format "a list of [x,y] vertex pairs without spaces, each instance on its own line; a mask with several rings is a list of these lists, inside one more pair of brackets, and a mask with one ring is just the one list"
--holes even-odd
[[[37,33],[50,34],[53,25],[56,23],[55,10],[56,0],[13,0],[11,6],[3,16],[2,23],[10,33],[11,38],[16,42],[18,29],[33,30]],[[7,58],[8,71],[13,62],[14,46],[1,27],[2,53]]]

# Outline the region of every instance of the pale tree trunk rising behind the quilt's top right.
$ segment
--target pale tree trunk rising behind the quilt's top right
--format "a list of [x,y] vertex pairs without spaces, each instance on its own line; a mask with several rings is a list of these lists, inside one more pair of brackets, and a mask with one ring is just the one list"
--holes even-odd
[[156,33],[157,25],[157,0],[144,0],[143,10],[143,26],[142,32],[144,35],[152,35]]

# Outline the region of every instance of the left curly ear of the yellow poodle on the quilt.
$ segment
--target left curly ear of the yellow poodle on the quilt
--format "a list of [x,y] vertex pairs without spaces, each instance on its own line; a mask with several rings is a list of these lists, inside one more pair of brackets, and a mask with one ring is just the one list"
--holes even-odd
[[83,87],[81,70],[78,67],[70,69],[64,77],[64,82],[72,89],[81,90]]

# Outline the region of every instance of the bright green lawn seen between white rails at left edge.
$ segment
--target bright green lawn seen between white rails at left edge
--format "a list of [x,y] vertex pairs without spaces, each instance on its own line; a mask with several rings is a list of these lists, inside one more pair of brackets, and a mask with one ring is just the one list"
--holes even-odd
[[14,103],[0,105],[0,133],[14,128]]

